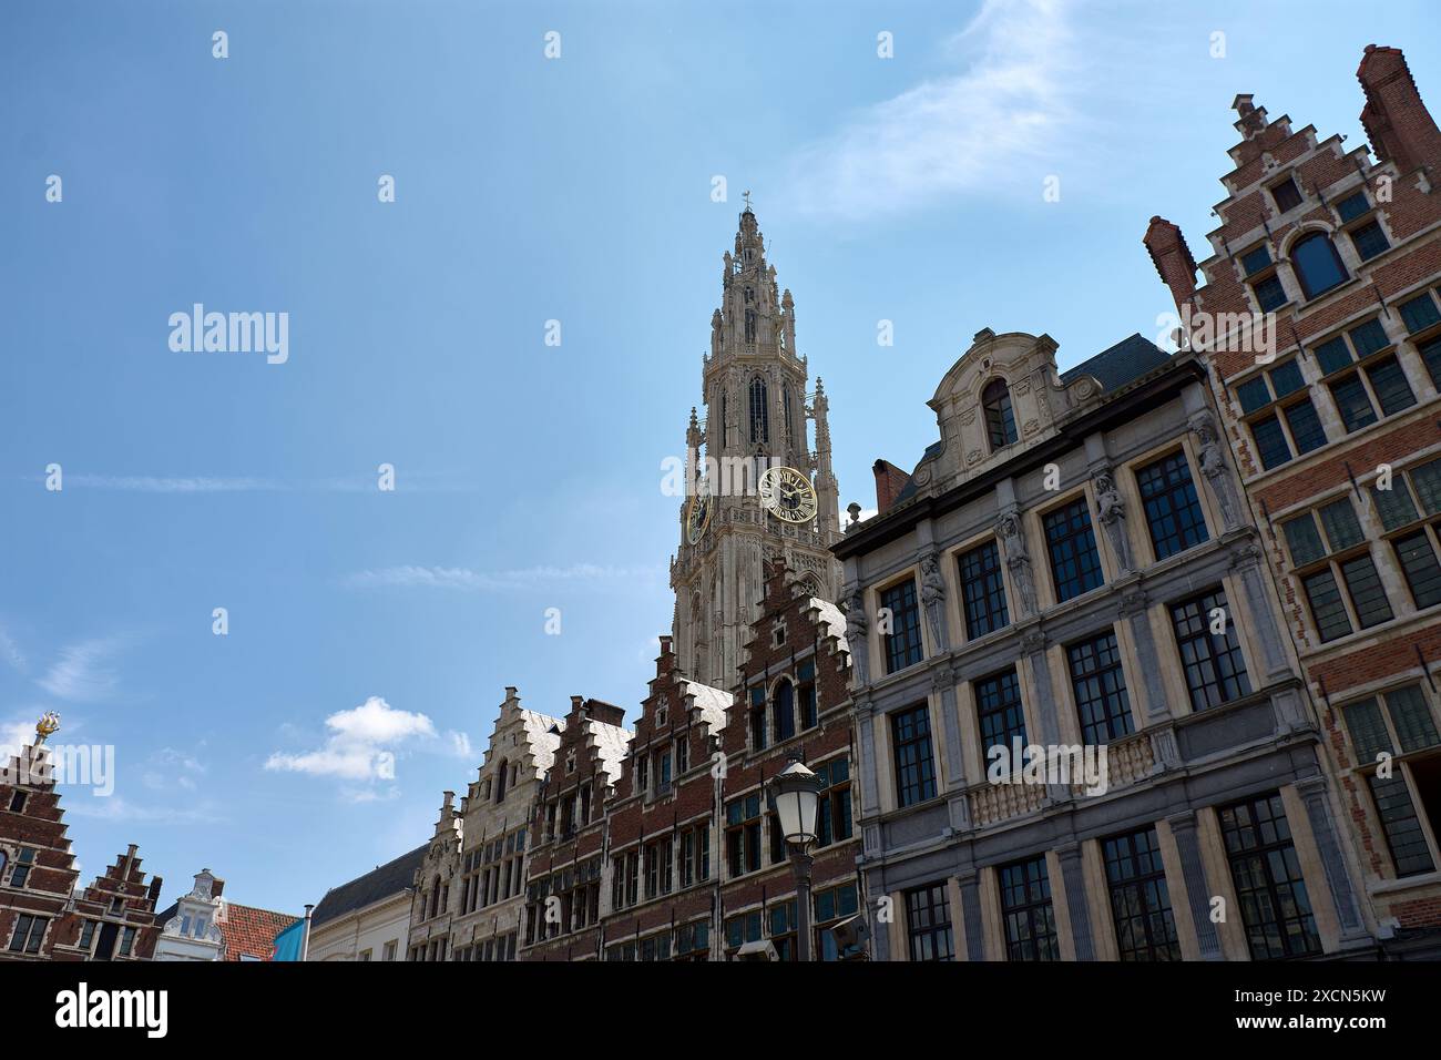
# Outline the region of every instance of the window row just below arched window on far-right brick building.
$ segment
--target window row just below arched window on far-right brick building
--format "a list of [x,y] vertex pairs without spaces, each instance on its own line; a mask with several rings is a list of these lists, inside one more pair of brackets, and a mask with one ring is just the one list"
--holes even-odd
[[[1431,291],[1422,291],[1398,309],[1414,336],[1441,323],[1441,309]],[[1418,342],[1417,352],[1432,385],[1441,389],[1441,336]],[[1415,381],[1408,378],[1379,317],[1311,348],[1311,356],[1319,371],[1317,388],[1330,395],[1346,434],[1417,404]],[[1297,358],[1238,384],[1235,394],[1264,470],[1280,467],[1331,440],[1321,425]]]

